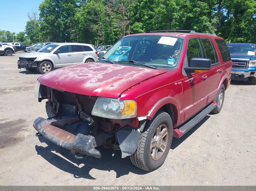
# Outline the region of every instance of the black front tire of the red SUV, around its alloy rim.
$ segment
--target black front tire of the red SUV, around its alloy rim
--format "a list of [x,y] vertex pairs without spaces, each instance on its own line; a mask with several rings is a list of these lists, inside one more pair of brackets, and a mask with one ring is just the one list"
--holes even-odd
[[[161,143],[164,142],[162,140],[165,140],[166,147],[163,152],[159,152],[160,156],[158,159],[153,159],[152,157],[153,152],[151,154],[151,150],[153,150],[152,145],[154,144],[152,144],[152,140],[155,137],[155,133],[157,133],[156,130],[160,128],[160,131],[161,131],[161,126],[165,126],[168,130],[167,131],[168,133],[165,137],[163,137],[163,139],[161,139],[161,141],[159,141],[160,142],[159,144],[161,146]],[[146,123],[145,128],[142,132],[142,136],[141,136],[138,148],[135,151],[135,153],[133,153],[130,156],[131,162],[136,167],[141,168],[142,170],[152,171],[152,170],[158,169],[165,162],[165,159],[168,155],[171,142],[172,142],[172,135],[173,135],[173,127],[172,127],[171,117],[169,116],[168,113],[165,113],[164,111],[158,111],[153,117],[153,119]],[[167,140],[166,140],[166,137],[168,138]],[[158,141],[155,141],[155,145],[158,145]],[[157,155],[158,155],[158,150],[157,150]]]

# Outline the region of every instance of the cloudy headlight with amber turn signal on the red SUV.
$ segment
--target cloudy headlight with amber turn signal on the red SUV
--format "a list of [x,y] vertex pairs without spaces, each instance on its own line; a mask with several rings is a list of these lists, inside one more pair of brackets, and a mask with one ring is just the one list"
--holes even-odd
[[129,119],[136,117],[137,105],[134,100],[98,97],[91,114],[109,119]]

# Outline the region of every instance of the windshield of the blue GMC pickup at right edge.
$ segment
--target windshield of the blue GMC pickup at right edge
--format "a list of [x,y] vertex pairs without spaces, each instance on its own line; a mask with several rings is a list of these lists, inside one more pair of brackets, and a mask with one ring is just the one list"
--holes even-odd
[[246,54],[246,55],[255,55],[256,49],[254,45],[228,45],[228,50],[230,54]]

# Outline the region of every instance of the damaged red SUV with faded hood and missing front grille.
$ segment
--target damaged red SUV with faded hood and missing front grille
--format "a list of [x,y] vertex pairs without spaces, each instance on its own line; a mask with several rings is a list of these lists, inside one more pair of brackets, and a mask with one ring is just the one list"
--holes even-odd
[[53,70],[35,87],[48,99],[37,136],[77,159],[101,157],[98,146],[120,149],[143,170],[160,167],[172,137],[208,113],[219,113],[231,81],[223,38],[187,30],[149,31],[120,39],[94,63]]

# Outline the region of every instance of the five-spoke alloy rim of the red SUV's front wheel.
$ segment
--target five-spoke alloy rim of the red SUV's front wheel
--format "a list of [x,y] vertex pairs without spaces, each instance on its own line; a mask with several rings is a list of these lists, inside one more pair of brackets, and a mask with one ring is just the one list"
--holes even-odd
[[165,124],[161,124],[155,131],[151,141],[151,158],[158,160],[164,153],[168,142],[168,128]]

